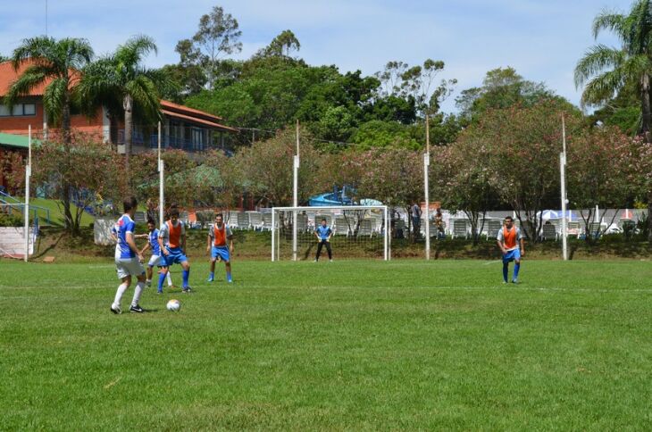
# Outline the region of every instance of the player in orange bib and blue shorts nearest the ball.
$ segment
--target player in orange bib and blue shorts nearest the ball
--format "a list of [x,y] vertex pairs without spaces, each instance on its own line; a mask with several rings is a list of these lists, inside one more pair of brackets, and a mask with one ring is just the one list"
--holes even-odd
[[180,263],[183,269],[183,286],[181,292],[189,293],[188,278],[190,278],[190,263],[186,257],[186,227],[179,220],[179,209],[172,207],[170,210],[170,220],[161,225],[158,232],[158,245],[163,253],[161,259],[161,274],[158,277],[158,291],[163,291],[163,280],[168,274],[172,264]]

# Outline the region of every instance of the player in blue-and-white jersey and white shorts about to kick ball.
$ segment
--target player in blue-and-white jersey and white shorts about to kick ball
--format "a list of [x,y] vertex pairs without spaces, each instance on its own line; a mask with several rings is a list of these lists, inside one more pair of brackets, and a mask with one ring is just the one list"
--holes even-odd
[[122,313],[120,308],[122,295],[130,287],[131,277],[136,276],[138,278],[138,284],[136,284],[136,288],[134,289],[134,297],[131,300],[129,310],[130,312],[140,313],[145,312],[138,304],[140,295],[145,288],[145,269],[143,269],[143,264],[141,263],[143,261],[143,255],[138,252],[138,247],[136,247],[136,241],[134,239],[136,224],[134,223],[133,217],[138,202],[136,198],[131,197],[124,200],[123,206],[124,214],[114,227],[114,235],[118,240],[115,245],[115,268],[118,271],[118,278],[120,278],[121,284],[115,293],[115,299],[111,305],[111,312]]

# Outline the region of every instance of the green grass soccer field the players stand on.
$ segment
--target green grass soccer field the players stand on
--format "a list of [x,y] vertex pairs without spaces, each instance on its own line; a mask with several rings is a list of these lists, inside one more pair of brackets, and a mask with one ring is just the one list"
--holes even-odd
[[0,262],[0,428],[652,428],[650,262],[206,268],[116,316],[111,262]]

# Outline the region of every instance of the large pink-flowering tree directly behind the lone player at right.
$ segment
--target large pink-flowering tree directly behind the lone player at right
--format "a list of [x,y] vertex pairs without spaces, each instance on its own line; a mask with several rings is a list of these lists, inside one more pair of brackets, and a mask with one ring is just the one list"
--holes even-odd
[[[568,130],[580,128],[580,112],[551,99],[531,107],[486,112],[460,138],[487,146],[490,185],[503,202],[513,206],[523,234],[531,240],[539,238],[541,211],[558,205],[562,114]],[[476,152],[467,155],[475,157]]]

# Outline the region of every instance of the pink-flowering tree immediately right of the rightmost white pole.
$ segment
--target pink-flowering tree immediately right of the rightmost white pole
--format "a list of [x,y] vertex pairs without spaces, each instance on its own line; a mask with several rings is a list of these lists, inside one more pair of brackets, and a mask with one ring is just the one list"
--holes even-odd
[[[635,170],[636,145],[631,137],[615,128],[590,129],[568,143],[568,199],[574,208],[588,209],[581,214],[584,232],[590,232],[596,205],[619,209],[635,194],[635,178],[644,175]],[[586,239],[591,241],[592,237]]]

